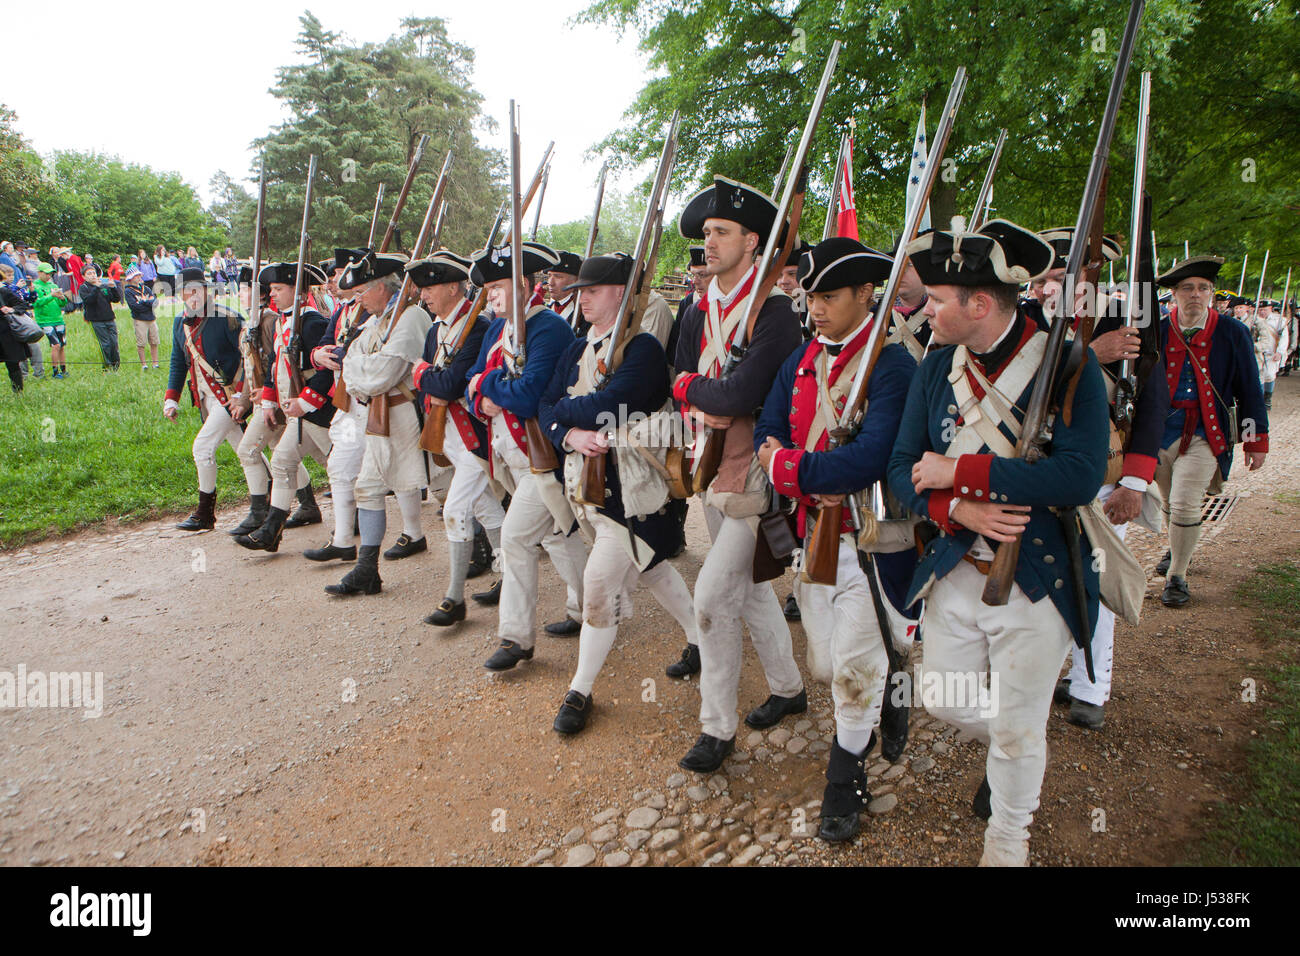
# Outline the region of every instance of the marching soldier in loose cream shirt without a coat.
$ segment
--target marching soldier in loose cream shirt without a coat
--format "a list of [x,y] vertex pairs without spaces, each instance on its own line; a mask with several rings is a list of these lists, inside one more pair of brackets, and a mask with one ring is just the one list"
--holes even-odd
[[402,512],[402,535],[384,557],[396,561],[429,548],[420,527],[420,493],[428,486],[428,463],[420,449],[420,412],[407,382],[424,352],[433,321],[419,303],[400,315],[396,312],[406,265],[404,255],[367,252],[344,273],[344,282],[356,290],[361,308],[370,317],[343,355],[343,384],[352,402],[367,406],[370,416],[376,402],[387,403],[387,434],[376,434],[368,419],[365,451],[356,477],[356,519],[361,529],[356,567],[338,584],[325,588],[339,597],[382,591],[380,545],[387,527],[385,502],[390,490]]

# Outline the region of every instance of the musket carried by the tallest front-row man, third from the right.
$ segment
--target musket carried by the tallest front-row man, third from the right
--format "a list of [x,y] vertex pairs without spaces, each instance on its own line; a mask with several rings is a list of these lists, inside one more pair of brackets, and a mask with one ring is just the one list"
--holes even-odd
[[[796,173],[785,181],[785,189],[781,193],[781,202],[776,207],[776,216],[772,220],[772,229],[767,235],[767,243],[763,246],[763,255],[758,260],[754,290],[745,302],[745,312],[740,321],[738,333],[732,341],[727,362],[723,364],[719,378],[727,378],[731,376],[731,373],[736,371],[736,365],[738,365],[741,359],[745,358],[745,352],[749,350],[749,342],[754,336],[754,325],[758,321],[758,315],[762,311],[763,303],[767,300],[767,295],[772,290],[772,286],[776,285],[776,280],[780,277],[781,269],[785,268],[785,264],[789,261],[790,251],[794,247],[794,237],[800,234],[800,219],[803,215],[803,193],[807,189],[809,150],[812,144],[812,134],[816,133],[818,121],[822,118],[822,109],[826,105],[827,88],[831,86],[831,77],[835,74],[835,65],[838,59],[840,42],[835,40],[835,43],[831,44],[831,53],[826,60],[826,69],[822,72],[822,82],[818,85],[816,95],[812,98],[812,107],[809,111],[807,121],[803,124],[803,133],[794,150],[792,168]],[[786,222],[786,220],[789,221]],[[785,248],[781,250],[781,258],[777,261],[776,252],[781,241],[783,226],[785,226],[790,241],[785,243]],[[707,490],[708,485],[714,480],[714,476],[718,473],[718,466],[722,464],[723,460],[723,444],[725,441],[725,434],[727,429],[705,427],[696,437],[693,480],[696,492],[702,493]]]

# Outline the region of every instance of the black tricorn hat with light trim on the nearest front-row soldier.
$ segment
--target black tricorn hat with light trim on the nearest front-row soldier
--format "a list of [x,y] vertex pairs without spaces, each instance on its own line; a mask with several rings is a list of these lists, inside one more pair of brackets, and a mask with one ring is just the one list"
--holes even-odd
[[989,220],[974,233],[930,229],[907,243],[907,258],[926,285],[1022,285],[1048,269],[1056,259],[1052,246],[1036,233]]

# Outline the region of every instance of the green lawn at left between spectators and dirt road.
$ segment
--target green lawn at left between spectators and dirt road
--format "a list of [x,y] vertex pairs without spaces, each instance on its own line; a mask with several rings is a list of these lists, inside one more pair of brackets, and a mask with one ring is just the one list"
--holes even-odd
[[[126,307],[118,307],[117,338],[122,365],[104,372],[95,333],[81,317],[68,319],[69,376],[53,380],[49,345],[44,378],[27,378],[22,393],[0,388],[0,546],[117,518],[127,522],[188,511],[198,501],[190,445],[199,412],[181,397],[177,421],[162,418],[176,308],[160,306],[159,364],[142,372],[135,332]],[[247,498],[234,449],[217,453],[221,502]],[[321,470],[308,463],[320,477]]]

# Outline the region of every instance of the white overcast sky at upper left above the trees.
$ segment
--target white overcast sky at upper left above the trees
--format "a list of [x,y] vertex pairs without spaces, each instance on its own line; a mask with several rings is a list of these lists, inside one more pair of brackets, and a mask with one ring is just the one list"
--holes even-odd
[[[294,40],[303,10],[326,30],[361,42],[395,34],[407,16],[442,17],[451,38],[477,53],[474,87],[485,98],[484,111],[500,124],[500,142],[491,144],[508,146],[511,98],[521,112],[525,179],[555,140],[542,224],[566,222],[590,216],[599,161],[582,155],[620,124],[644,82],[634,35],[620,40],[603,27],[568,26],[586,5],[65,0],[48,8],[52,17],[31,23],[31,42],[8,36],[0,103],[18,113],[18,131],[40,153],[95,150],[176,170],[207,202],[212,174],[224,169],[243,179],[252,161],[248,144],[285,120],[269,91],[276,69],[298,60]],[[17,10],[5,16],[14,14],[26,17]],[[244,185],[252,190],[251,182]],[[611,182],[615,189],[629,185]]]

